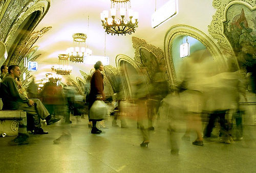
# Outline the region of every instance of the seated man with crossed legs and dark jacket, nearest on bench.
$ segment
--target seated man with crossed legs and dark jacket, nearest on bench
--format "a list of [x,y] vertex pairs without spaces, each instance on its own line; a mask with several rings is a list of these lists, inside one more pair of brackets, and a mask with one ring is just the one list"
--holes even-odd
[[28,115],[33,117],[34,134],[48,134],[41,129],[40,118],[46,119],[47,125],[59,121],[60,118],[52,118],[48,111],[41,111],[38,109],[39,105],[36,107],[34,101],[19,93],[15,78],[19,78],[21,72],[17,65],[9,66],[8,73],[9,75],[2,81],[0,91],[4,103],[3,110],[26,111]]

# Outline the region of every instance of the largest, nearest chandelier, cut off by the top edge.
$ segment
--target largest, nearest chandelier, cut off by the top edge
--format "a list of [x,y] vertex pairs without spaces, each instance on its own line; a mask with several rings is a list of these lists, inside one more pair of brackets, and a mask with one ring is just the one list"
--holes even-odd
[[130,0],[111,0],[111,9],[100,13],[102,26],[107,34],[126,35],[135,32],[138,27],[138,12],[131,9]]

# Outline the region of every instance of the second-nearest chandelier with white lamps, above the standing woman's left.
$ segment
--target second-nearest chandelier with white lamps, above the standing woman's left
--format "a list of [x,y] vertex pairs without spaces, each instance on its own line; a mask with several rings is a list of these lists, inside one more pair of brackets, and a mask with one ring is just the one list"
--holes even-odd
[[86,48],[87,35],[83,33],[73,34],[73,42],[75,47],[70,47],[67,50],[69,60],[71,62],[83,62],[83,57],[92,55],[92,51]]

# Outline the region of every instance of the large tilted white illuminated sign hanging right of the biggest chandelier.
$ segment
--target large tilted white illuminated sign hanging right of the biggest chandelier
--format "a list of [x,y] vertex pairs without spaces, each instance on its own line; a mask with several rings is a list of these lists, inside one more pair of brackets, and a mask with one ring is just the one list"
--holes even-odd
[[169,0],[152,14],[152,28],[158,27],[160,24],[174,17],[176,14],[178,14],[178,2],[177,0]]

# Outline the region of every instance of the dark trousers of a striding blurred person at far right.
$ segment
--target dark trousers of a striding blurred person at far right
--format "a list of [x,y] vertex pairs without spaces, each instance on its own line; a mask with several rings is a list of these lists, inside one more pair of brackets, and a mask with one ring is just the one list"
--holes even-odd
[[225,115],[227,110],[223,111],[214,111],[211,114],[209,114],[209,122],[205,129],[204,136],[210,137],[210,134],[212,132],[212,129],[214,128],[215,120],[219,117],[220,118],[220,125],[221,129],[224,131],[227,131],[227,127],[225,125]]

